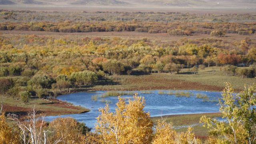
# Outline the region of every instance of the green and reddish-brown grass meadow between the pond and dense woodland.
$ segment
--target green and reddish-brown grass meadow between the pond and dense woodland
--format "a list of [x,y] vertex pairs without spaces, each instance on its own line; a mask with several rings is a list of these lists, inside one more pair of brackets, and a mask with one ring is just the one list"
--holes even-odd
[[180,74],[152,73],[145,75],[110,76],[114,83],[93,86],[91,90],[208,90],[222,91],[225,82],[230,82],[237,92],[244,84],[256,83],[256,78],[225,76],[220,67],[209,67],[191,74],[189,69],[182,69]]

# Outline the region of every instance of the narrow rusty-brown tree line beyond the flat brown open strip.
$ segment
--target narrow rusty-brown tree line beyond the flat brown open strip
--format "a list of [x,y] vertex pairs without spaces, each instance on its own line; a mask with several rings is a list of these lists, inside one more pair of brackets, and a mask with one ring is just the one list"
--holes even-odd
[[[28,30],[47,32],[148,32],[168,33],[173,36],[211,34],[249,35],[256,31],[255,22],[143,22],[143,21],[90,21],[90,22],[1,22],[0,30]],[[217,34],[217,33],[216,33]],[[216,35],[213,34],[212,35]],[[222,36],[218,34],[218,36]]]

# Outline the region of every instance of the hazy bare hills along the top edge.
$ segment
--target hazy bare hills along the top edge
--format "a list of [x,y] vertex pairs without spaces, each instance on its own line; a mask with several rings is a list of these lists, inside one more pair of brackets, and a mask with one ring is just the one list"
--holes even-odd
[[81,7],[81,6],[122,6],[122,7],[182,7],[182,8],[255,8],[256,0],[0,0],[0,5],[48,5]]

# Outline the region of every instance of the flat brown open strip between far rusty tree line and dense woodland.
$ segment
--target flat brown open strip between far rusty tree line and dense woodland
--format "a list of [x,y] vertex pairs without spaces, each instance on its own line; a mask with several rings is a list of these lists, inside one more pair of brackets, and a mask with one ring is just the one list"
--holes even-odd
[[[148,38],[153,41],[160,41],[161,43],[168,43],[172,41],[179,41],[183,38],[196,40],[201,38],[212,38],[209,34],[194,34],[192,36],[170,36],[167,33],[157,33],[150,34],[147,32],[74,32],[74,33],[65,33],[65,32],[40,32],[40,31],[21,31],[21,30],[0,30],[0,34],[6,37],[12,36],[21,36],[21,35],[31,35],[36,34],[38,36],[46,37],[56,37],[56,38],[67,38],[72,37],[72,39],[81,39],[86,36],[90,38],[116,38],[120,37],[123,39],[142,39]],[[233,43],[238,40],[242,40],[245,37],[250,38],[252,42],[256,42],[256,34],[251,34],[247,36],[242,36],[239,34],[226,34],[226,36],[221,38],[216,38],[217,40],[223,40],[228,43]]]

